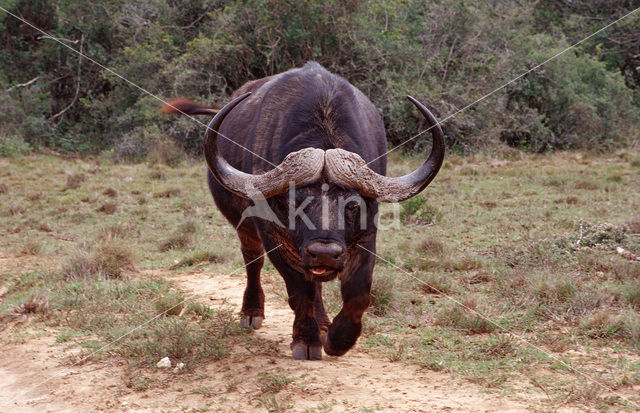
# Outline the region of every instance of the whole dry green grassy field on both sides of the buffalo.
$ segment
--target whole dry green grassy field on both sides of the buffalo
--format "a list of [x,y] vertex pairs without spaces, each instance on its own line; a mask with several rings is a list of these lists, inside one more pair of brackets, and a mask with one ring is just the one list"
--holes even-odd
[[[390,174],[420,162],[392,156]],[[28,341],[43,323],[81,350],[70,363],[116,358],[133,371],[268,346],[238,327],[238,309],[185,301],[149,275],[242,267],[204,174],[204,162],[179,159],[0,159],[0,251],[24,263],[0,268],[5,340]],[[616,393],[640,385],[639,176],[640,156],[627,153],[448,158],[423,196],[383,209],[383,226],[396,213],[402,223],[379,231],[359,347],[490,391],[542,392],[549,406],[633,409]],[[336,311],[335,283],[325,296]],[[266,377],[265,394],[282,380]]]

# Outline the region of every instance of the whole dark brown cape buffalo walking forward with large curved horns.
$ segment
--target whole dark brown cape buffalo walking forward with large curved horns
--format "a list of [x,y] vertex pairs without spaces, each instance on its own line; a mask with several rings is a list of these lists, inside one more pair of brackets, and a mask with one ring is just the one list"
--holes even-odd
[[[222,109],[175,100],[163,111],[216,114],[204,154],[213,199],[237,228],[246,263],[241,324],[257,329],[264,319],[267,251],[295,313],[293,358],[319,360],[323,348],[343,355],[360,336],[370,303],[378,202],[408,199],[431,182],[444,157],[442,130],[408,96],[427,119],[433,145],[421,167],[391,178],[380,114],[319,64],[251,81],[232,98]],[[322,283],[336,277],[343,307],[331,321]]]

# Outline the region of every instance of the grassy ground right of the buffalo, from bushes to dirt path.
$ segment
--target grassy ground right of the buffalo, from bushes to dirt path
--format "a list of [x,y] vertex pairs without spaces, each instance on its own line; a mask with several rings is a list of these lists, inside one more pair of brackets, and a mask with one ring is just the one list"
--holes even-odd
[[[428,200],[442,211],[439,219],[379,232],[378,253],[412,277],[378,261],[376,294],[390,299],[384,312],[376,306],[369,311],[366,345],[390,360],[502,389],[555,364],[503,329],[554,354],[615,346],[637,359],[640,264],[615,252],[623,247],[640,254],[640,182],[632,178],[637,167],[623,159],[578,159],[570,153],[522,156],[498,166],[482,155],[448,159],[424,199],[401,208],[407,223]],[[402,161],[390,161],[392,175],[410,171],[420,159]],[[383,223],[393,215],[389,211],[383,206]],[[393,282],[376,285],[376,278]],[[381,336],[392,339],[376,339]],[[507,339],[509,351],[497,351],[494,342]],[[600,374],[566,354],[572,366]],[[604,359],[595,363],[606,365]],[[618,375],[638,384],[639,372],[637,363],[626,363],[600,378],[619,388]],[[586,387],[570,374],[548,380],[553,385],[545,391],[553,397]],[[587,399],[582,395],[576,403]]]

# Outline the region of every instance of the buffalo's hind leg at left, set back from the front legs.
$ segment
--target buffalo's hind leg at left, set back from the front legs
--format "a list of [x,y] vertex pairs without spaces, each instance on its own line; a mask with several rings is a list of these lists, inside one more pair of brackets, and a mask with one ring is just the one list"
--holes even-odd
[[264,264],[264,248],[253,222],[247,220],[238,227],[240,249],[247,269],[247,287],[242,298],[240,325],[255,330],[264,320],[264,292],[260,284],[260,270]]

